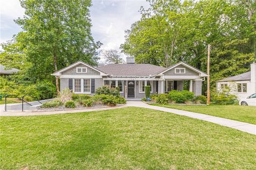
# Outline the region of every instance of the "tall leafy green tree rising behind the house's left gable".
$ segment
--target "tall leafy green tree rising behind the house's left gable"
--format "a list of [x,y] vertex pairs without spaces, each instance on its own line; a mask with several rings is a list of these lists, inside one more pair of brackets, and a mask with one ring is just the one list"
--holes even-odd
[[[28,72],[37,79],[82,60],[93,66],[101,43],[94,43],[87,0],[22,0],[25,16],[15,20],[23,29],[19,39],[25,49]],[[18,34],[18,36],[20,35]],[[59,93],[59,80],[55,78]]]

